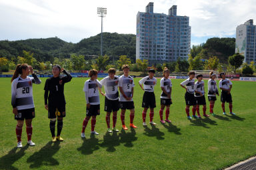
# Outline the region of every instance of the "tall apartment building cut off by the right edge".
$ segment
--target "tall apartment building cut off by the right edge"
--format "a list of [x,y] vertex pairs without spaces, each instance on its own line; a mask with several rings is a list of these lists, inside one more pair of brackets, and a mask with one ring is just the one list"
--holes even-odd
[[256,25],[253,25],[253,19],[237,26],[235,52],[244,55],[247,64],[256,62]]

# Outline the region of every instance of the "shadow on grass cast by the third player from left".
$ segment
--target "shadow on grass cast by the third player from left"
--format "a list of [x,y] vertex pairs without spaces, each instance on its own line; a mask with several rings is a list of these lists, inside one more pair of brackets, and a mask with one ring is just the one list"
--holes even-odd
[[95,135],[90,135],[89,139],[83,138],[83,145],[77,148],[77,151],[81,151],[84,155],[91,155],[94,151],[99,149],[99,139],[95,138]]

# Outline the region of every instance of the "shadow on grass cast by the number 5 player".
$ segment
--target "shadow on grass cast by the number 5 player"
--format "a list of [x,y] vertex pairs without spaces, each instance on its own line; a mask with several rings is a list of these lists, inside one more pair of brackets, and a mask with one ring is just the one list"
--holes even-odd
[[133,141],[136,141],[138,137],[135,137],[136,131],[131,127],[131,132],[121,130],[119,133],[120,143],[125,143],[125,147],[133,147]]

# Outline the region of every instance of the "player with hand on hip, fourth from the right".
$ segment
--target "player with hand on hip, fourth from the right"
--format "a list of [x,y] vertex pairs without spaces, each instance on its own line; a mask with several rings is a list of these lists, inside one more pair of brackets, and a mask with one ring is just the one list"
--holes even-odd
[[194,93],[195,93],[195,80],[194,80],[195,72],[190,71],[188,73],[188,75],[189,75],[189,78],[181,83],[181,87],[183,87],[186,90],[186,93],[185,93],[185,101],[186,101],[185,111],[187,113],[187,119],[192,119],[189,115],[189,107],[190,106],[193,106],[193,108],[192,108],[193,117],[198,118],[195,115],[196,105],[197,105],[197,101],[195,100],[195,96],[194,96]]

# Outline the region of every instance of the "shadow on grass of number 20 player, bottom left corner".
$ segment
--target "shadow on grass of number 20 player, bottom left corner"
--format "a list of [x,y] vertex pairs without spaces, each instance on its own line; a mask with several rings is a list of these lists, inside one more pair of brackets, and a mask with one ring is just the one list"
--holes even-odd
[[21,149],[17,147],[11,149],[7,155],[0,158],[0,169],[18,169],[17,167],[13,167],[13,163],[25,155],[25,150],[27,150],[28,147],[29,146],[26,145]]

